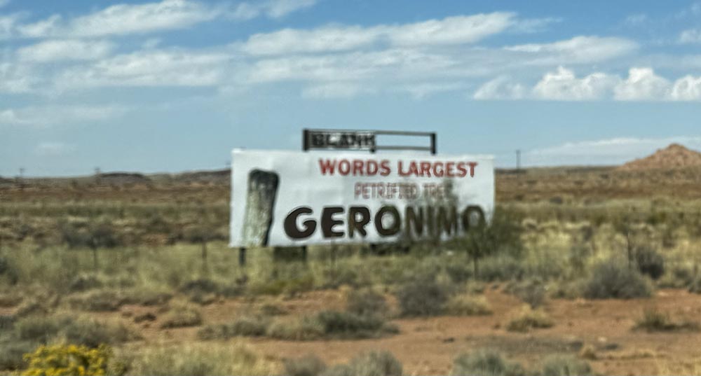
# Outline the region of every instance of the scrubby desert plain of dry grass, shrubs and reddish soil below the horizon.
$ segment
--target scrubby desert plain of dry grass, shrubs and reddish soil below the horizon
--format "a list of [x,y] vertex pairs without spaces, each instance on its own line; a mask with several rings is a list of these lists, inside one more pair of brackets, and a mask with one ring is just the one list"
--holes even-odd
[[699,156],[498,170],[482,237],[245,265],[229,172],[0,179],[0,370],[74,344],[114,375],[699,374]]

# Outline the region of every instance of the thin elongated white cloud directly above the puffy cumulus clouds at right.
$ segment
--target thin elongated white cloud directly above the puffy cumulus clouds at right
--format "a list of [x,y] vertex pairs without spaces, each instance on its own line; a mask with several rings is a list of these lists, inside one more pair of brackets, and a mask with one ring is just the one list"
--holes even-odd
[[573,64],[600,62],[637,50],[629,39],[600,36],[576,36],[553,43],[531,43],[509,46],[505,50],[524,53],[524,62],[531,64]]

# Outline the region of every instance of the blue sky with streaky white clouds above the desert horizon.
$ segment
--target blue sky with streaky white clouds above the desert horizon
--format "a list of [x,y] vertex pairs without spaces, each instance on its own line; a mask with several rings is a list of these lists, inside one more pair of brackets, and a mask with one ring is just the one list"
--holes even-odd
[[304,127],[512,167],[701,148],[701,2],[0,0],[0,175],[226,167]]

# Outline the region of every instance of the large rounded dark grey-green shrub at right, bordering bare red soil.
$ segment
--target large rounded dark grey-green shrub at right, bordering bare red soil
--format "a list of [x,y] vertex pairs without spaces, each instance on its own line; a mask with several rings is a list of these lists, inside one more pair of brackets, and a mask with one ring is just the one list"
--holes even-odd
[[594,267],[583,293],[587,299],[648,298],[652,288],[637,270],[610,261]]

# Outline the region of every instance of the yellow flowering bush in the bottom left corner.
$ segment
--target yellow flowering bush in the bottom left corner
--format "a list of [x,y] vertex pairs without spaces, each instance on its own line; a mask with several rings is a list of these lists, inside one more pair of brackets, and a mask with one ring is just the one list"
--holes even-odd
[[75,344],[40,346],[25,354],[29,368],[22,376],[102,376],[111,355],[111,349],[104,344],[97,349]]

